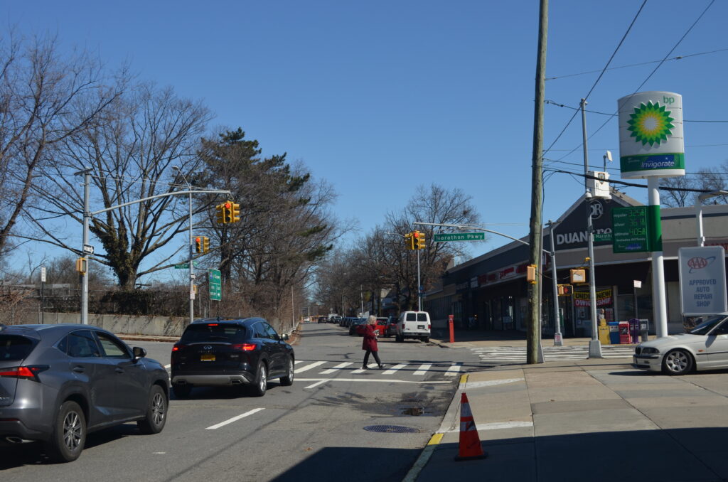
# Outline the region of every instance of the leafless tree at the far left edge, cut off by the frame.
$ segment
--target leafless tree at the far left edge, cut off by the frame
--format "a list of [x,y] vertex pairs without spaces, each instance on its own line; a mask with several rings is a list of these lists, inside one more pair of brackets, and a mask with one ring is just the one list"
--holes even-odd
[[50,151],[98,119],[124,90],[119,79],[108,87],[97,59],[61,55],[55,37],[0,40],[0,252]]

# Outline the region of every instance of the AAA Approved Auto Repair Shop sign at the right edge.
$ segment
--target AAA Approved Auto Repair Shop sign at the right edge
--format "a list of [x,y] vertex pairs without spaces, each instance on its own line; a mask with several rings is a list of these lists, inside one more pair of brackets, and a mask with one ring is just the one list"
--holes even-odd
[[728,313],[722,246],[680,248],[680,306],[685,316]]

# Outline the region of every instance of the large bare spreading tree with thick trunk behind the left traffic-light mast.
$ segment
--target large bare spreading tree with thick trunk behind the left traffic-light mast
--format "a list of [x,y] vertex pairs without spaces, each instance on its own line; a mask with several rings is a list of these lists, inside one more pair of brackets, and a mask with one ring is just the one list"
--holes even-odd
[[[53,152],[54,162],[42,171],[43,182],[35,186],[42,202],[31,208],[41,230],[38,239],[77,251],[71,242],[78,243],[80,236],[69,241],[57,227],[74,220],[80,234],[83,189],[74,172],[87,167],[92,170],[92,211],[186,189],[172,167],[194,173],[200,164],[199,138],[209,119],[202,103],[179,98],[170,87],[139,84],[116,98],[103,116],[63,139]],[[103,246],[95,259],[112,269],[122,288],[134,288],[138,277],[169,266],[181,249],[141,266],[186,229],[187,206],[182,202],[177,210],[177,201],[173,196],[151,199],[92,219],[90,231]]]

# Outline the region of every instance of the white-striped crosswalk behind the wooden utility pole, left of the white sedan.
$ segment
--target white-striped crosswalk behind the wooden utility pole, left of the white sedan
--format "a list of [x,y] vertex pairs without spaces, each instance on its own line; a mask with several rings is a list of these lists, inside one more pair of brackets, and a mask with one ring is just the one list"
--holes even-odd
[[[480,357],[481,363],[526,363],[526,347],[483,347],[471,348]],[[584,360],[589,356],[589,347],[543,347],[545,361]],[[604,358],[630,358],[634,347],[625,345],[604,345],[601,355]]]

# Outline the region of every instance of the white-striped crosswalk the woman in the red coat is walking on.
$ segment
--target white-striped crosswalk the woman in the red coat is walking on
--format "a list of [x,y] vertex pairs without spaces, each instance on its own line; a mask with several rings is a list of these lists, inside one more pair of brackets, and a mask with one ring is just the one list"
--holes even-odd
[[348,376],[365,373],[373,373],[377,376],[458,376],[463,371],[461,362],[397,363],[385,366],[384,370],[378,370],[376,363],[369,363],[369,369],[365,370],[359,363],[339,363],[338,360],[296,360],[295,363],[296,376],[300,374],[304,374],[304,376],[346,374]]

